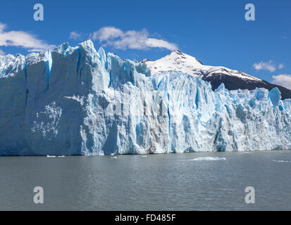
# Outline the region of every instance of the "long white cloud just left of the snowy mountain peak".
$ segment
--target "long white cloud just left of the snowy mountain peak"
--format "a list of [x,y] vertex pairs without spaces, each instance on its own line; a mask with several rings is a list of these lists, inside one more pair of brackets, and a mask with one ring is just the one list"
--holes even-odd
[[102,27],[101,29],[93,32],[91,35],[93,40],[98,40],[104,46],[113,46],[116,49],[149,49],[161,48],[171,51],[177,50],[178,47],[165,41],[163,39],[156,39],[149,36],[149,32],[143,29],[141,31],[129,30],[123,32],[116,27]]

